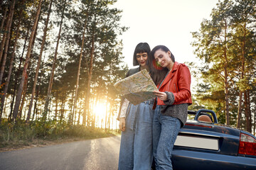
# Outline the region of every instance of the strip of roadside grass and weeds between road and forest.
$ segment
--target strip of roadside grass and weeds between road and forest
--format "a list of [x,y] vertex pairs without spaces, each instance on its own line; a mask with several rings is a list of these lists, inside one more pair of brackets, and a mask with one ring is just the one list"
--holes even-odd
[[0,125],[0,150],[90,140],[118,134],[118,131],[68,125],[55,121],[48,121],[44,124],[38,121],[29,125],[23,121],[18,121],[16,124],[3,121]]

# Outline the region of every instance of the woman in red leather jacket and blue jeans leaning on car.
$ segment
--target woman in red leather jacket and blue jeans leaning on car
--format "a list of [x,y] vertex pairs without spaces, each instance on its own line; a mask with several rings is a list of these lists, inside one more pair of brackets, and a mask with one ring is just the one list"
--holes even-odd
[[156,169],[172,169],[171,152],[180,128],[186,123],[191,99],[191,74],[185,64],[175,62],[164,45],[149,54],[151,77],[159,91],[154,91],[153,154]]

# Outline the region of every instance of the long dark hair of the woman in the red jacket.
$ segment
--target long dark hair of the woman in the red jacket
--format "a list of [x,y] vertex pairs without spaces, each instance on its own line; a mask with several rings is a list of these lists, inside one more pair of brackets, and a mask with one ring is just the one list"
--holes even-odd
[[[151,77],[154,81],[154,83],[160,84],[161,81],[164,80],[164,78],[166,77],[166,74],[169,72],[169,70],[166,67],[161,67],[159,66],[159,64],[156,62],[155,58],[154,58],[154,53],[157,50],[162,50],[164,52],[171,52],[169,50],[168,47],[164,46],[164,45],[157,45],[156,47],[154,47],[151,52],[149,52],[149,68],[150,68],[150,73],[151,73]],[[171,52],[171,60],[173,62],[175,62],[175,57],[173,55],[173,53]]]

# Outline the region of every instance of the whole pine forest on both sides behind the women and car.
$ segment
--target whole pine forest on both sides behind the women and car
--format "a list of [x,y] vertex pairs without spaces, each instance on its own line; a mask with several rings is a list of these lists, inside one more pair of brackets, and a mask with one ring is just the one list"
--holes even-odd
[[[118,129],[113,84],[128,70],[119,38],[128,27],[116,2],[0,2],[1,147]],[[186,63],[197,82],[189,109],[255,135],[255,0],[219,1],[192,35],[201,64]]]

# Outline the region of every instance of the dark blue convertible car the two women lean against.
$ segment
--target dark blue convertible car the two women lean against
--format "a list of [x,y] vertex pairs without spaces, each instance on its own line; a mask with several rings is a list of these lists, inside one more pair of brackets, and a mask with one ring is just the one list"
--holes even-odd
[[210,110],[188,111],[188,118],[174,144],[175,170],[256,169],[254,135],[219,124]]

